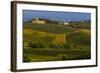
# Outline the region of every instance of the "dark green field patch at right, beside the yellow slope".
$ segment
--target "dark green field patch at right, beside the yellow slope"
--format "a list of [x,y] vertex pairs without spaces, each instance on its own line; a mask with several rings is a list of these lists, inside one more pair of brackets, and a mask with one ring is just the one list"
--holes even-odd
[[[69,37],[68,37],[69,36]],[[76,32],[66,36],[68,43],[73,47],[90,46],[90,34],[84,32]]]

